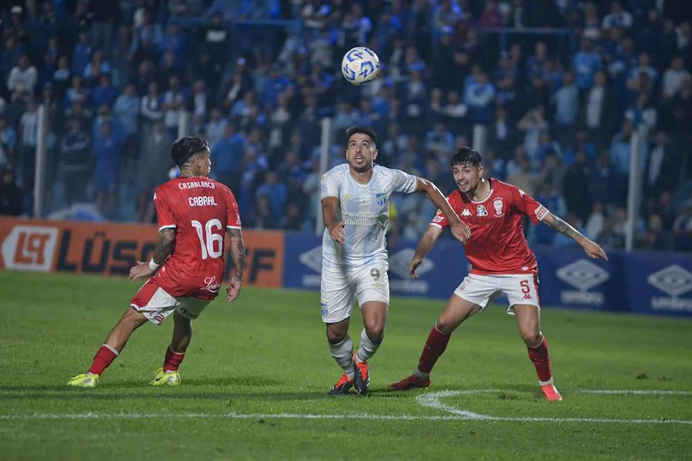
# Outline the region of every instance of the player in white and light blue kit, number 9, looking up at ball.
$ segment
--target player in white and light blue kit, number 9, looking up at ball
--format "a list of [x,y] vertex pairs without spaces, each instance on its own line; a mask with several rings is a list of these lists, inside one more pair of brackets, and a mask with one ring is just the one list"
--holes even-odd
[[[465,243],[469,227],[451,209],[433,183],[399,169],[375,165],[377,135],[364,126],[346,131],[348,164],[322,176],[322,321],[331,355],[344,370],[330,395],[368,393],[368,358],[384,338],[389,308],[389,261],[385,233],[389,224],[389,198],[394,192],[422,192],[450,220],[453,236]],[[354,301],[358,301],[365,328],[361,345],[353,353],[348,335]]]

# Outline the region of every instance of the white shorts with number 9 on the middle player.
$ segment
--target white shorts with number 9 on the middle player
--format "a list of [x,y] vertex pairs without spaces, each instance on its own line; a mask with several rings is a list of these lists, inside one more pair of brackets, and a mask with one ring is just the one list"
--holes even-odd
[[322,322],[336,324],[351,317],[353,302],[382,301],[389,307],[389,265],[369,264],[355,271],[322,268],[319,297]]

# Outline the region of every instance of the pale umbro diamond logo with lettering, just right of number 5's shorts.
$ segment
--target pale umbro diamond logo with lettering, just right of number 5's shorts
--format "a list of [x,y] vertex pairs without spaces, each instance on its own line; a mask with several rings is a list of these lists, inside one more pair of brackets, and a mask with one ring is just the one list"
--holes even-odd
[[601,292],[590,292],[610,279],[610,274],[596,264],[580,259],[568,264],[557,271],[557,278],[577,290],[564,290],[560,293],[563,303],[603,305],[605,296]]

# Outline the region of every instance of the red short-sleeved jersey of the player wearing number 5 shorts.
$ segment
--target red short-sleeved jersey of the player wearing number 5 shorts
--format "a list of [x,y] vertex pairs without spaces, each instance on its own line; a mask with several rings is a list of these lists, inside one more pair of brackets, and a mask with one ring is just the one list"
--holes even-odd
[[[473,202],[459,190],[447,196],[452,209],[471,228],[471,239],[464,250],[477,275],[510,275],[537,273],[536,257],[524,237],[521,216],[538,224],[548,209],[515,186],[489,179],[490,195]],[[437,211],[430,225],[449,226],[442,211]]]

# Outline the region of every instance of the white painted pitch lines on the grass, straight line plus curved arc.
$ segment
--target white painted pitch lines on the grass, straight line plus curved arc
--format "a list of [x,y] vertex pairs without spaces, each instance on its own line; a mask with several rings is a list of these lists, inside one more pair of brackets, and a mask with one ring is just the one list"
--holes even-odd
[[[433,408],[448,413],[443,416],[419,416],[407,414],[373,415],[373,414],[242,414],[242,413],[34,413],[34,414],[0,414],[0,421],[8,420],[55,420],[55,419],[366,419],[376,421],[517,421],[549,423],[619,423],[619,424],[692,424],[692,421],[672,419],[615,419],[615,418],[512,418],[489,416],[451,407],[440,402],[441,398],[472,393],[511,392],[501,389],[470,389],[468,391],[442,391],[419,395],[416,402],[423,407]],[[571,393],[585,394],[634,394],[634,395],[692,395],[691,391],[610,391],[585,390]],[[556,404],[559,405],[559,404]]]

